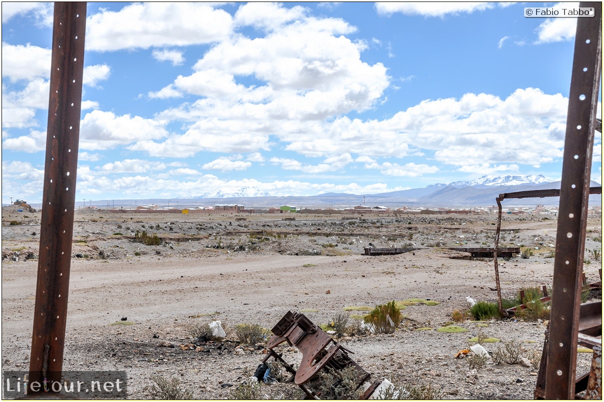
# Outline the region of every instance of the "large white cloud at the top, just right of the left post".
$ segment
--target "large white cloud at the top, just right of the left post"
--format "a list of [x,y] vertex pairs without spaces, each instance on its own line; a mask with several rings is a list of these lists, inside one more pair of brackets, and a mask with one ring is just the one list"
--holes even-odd
[[231,34],[231,15],[193,2],[148,2],[101,10],[86,20],[86,49],[115,51],[219,42]]

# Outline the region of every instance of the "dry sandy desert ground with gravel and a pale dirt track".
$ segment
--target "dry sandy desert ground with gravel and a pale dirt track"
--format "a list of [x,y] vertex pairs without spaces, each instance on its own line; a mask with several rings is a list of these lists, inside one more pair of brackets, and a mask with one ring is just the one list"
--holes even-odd
[[[40,218],[12,207],[2,212],[2,370],[29,367]],[[263,345],[240,345],[232,331],[237,324],[272,328],[288,310],[327,324],[346,307],[420,298],[440,304],[407,306],[393,334],[336,340],[372,380],[430,385],[443,399],[533,399],[535,366],[488,360],[472,371],[455,354],[480,334],[500,339],[483,344],[489,353],[513,341],[525,356],[538,356],[547,321],[468,317],[455,322],[467,332],[437,331],[453,321],[454,310],[469,309],[466,297],[496,301],[493,260],[453,258],[460,253],[448,249],[493,247],[495,225],[496,215],[76,210],[63,370],[126,371],[132,399],[150,398],[153,375],[178,378],[196,399],[229,399],[266,353]],[[500,246],[533,251],[527,259],[500,259],[504,297],[513,298],[521,287],[551,286],[556,225],[551,215],[504,216]],[[143,232],[159,237],[159,244],[135,241]],[[417,250],[365,256],[370,243]],[[590,282],[599,280],[602,268],[591,250],[601,249],[602,220],[593,215],[584,267]],[[191,326],[214,320],[226,327],[222,342],[200,344],[191,336]],[[120,325],[125,322],[132,325]],[[288,362],[300,362],[295,348],[279,350]],[[577,371],[588,370],[590,362],[590,353],[578,353]],[[302,396],[292,383],[263,385],[262,395]]]

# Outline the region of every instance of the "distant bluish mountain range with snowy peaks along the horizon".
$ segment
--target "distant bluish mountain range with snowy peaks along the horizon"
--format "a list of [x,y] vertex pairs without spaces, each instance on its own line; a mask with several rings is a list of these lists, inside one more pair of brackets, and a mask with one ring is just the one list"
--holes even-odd
[[[591,187],[601,184],[592,181]],[[500,193],[528,190],[559,189],[560,181],[549,181],[542,175],[507,175],[503,177],[483,176],[472,181],[455,181],[449,184],[431,184],[421,189],[400,190],[379,194],[356,195],[349,193],[324,193],[312,196],[271,196],[255,187],[242,187],[236,190],[220,190],[201,196],[182,196],[170,199],[181,207],[213,206],[215,204],[242,204],[250,209],[268,209],[284,205],[298,208],[326,209],[344,208],[357,205],[431,208],[431,207],[488,207],[496,204]],[[165,206],[167,199],[121,200],[124,207],[132,201],[138,205],[158,204]],[[111,204],[110,201],[98,201]],[[557,206],[559,197],[506,199],[505,206]],[[590,205],[602,205],[602,195],[590,195]]]

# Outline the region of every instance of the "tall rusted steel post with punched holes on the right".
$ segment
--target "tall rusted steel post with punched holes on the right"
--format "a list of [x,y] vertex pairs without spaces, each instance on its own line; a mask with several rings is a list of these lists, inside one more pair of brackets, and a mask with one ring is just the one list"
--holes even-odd
[[602,3],[577,18],[556,233],[545,399],[574,399],[591,154],[602,69]]

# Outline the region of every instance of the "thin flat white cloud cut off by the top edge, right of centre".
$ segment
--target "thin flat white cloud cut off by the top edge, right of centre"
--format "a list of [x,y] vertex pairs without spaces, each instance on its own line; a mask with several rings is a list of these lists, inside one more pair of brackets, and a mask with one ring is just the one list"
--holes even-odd
[[446,14],[473,13],[495,7],[493,2],[376,2],[378,14],[403,13],[427,17],[443,17]]

